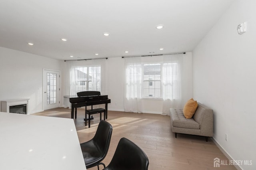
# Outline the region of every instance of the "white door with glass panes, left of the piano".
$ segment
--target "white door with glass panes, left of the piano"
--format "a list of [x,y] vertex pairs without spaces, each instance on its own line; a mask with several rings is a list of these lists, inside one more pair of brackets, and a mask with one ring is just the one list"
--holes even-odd
[[60,107],[60,72],[43,71],[43,110]]

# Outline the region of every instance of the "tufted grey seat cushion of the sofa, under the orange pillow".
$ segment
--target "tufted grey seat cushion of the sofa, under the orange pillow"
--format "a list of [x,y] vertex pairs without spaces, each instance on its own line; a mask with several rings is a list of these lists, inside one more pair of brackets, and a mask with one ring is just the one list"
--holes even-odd
[[200,124],[194,119],[186,119],[184,117],[182,109],[171,108],[170,112],[173,127],[200,129]]

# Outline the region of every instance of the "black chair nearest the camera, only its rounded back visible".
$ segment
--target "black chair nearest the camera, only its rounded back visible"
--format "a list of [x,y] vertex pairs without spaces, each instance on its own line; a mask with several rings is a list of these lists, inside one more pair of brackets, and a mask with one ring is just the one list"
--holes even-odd
[[148,156],[127,138],[121,138],[110,164],[103,170],[148,170]]

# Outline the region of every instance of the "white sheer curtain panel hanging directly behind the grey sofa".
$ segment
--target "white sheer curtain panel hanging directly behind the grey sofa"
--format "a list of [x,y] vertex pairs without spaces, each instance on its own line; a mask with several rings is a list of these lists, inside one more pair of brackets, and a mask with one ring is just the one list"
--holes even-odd
[[164,55],[162,65],[163,115],[182,105],[183,54]]

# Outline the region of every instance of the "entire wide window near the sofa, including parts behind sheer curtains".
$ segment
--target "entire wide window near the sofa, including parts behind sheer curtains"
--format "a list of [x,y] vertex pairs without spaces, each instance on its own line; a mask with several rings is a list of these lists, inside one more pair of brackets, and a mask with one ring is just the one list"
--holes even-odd
[[180,99],[179,69],[178,61],[127,63],[127,99]]

